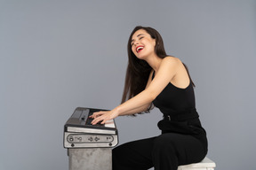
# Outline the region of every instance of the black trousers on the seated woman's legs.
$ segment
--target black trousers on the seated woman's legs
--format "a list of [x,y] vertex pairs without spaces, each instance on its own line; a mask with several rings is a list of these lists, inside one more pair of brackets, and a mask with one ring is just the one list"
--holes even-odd
[[113,150],[113,170],[177,170],[178,166],[200,162],[207,150],[193,135],[164,133],[124,143]]

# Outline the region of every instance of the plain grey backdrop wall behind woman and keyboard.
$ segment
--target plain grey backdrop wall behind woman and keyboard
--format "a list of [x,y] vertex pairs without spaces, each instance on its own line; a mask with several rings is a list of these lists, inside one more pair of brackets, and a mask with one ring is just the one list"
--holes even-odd
[[[76,106],[120,103],[133,27],[188,65],[217,170],[255,168],[256,1],[0,1],[0,169],[68,169]],[[116,119],[120,143],[158,135],[155,109]]]

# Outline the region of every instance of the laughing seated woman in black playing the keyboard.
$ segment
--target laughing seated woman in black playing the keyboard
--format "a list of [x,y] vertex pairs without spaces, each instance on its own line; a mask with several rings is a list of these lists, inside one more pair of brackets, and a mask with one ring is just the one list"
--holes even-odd
[[95,112],[92,124],[121,115],[148,112],[152,103],[164,114],[162,134],[124,143],[113,150],[114,170],[177,170],[201,161],[207,139],[196,112],[194,83],[179,58],[167,56],[161,35],[151,27],[135,27],[128,42],[123,104]]

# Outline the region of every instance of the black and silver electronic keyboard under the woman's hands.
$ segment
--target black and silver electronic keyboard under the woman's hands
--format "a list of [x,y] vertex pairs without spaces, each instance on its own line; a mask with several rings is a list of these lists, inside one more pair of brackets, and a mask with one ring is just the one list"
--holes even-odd
[[114,147],[118,143],[115,120],[92,125],[93,112],[106,111],[77,107],[64,126],[64,148]]

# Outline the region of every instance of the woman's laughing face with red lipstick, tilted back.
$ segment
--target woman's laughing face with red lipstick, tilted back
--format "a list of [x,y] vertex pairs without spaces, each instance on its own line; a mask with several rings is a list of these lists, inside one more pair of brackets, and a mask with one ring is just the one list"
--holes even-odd
[[155,53],[156,40],[144,29],[139,29],[132,35],[131,46],[137,58],[145,59]]

